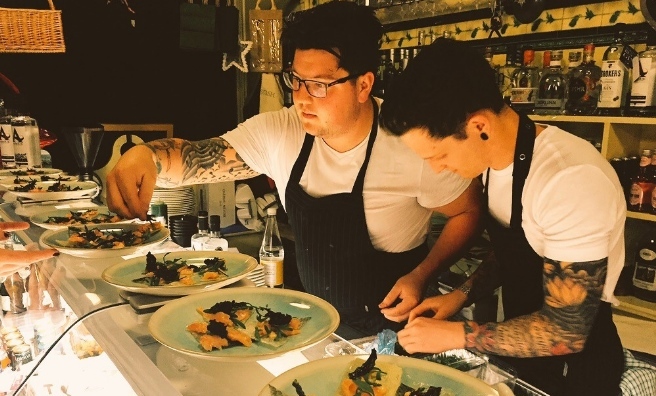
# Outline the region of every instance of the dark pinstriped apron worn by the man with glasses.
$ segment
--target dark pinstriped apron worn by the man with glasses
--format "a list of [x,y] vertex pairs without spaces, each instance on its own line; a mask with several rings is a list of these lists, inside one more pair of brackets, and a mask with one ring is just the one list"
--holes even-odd
[[301,283],[305,291],[335,306],[342,323],[359,331],[349,336],[399,329],[398,323],[383,317],[378,304],[428,253],[426,244],[402,253],[381,252],[369,238],[362,191],[378,132],[378,105],[372,102],[374,117],[366,157],[352,191],[315,198],[301,188],[299,182],[314,143],[314,136],[309,134],[285,191]]

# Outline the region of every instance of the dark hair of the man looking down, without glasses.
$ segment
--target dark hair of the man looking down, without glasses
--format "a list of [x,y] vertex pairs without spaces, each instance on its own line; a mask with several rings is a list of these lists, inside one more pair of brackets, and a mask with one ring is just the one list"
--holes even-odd
[[495,71],[470,44],[437,39],[409,62],[385,89],[381,125],[401,136],[425,128],[436,138],[464,139],[464,125],[476,111],[499,113],[505,105]]

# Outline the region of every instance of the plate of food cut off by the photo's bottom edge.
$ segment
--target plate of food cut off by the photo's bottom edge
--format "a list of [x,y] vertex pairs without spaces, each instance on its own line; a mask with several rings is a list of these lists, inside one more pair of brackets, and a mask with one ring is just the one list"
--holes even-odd
[[315,360],[274,378],[259,396],[498,396],[466,373],[407,356],[337,356]]

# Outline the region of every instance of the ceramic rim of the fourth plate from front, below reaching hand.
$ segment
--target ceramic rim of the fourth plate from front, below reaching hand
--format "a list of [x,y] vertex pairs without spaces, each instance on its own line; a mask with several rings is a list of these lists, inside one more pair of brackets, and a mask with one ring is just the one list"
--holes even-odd
[[[106,228],[122,228],[122,229],[136,229],[138,226],[142,224],[139,223],[125,223],[125,224],[94,224],[93,227],[91,228],[100,228],[100,229],[106,229]],[[136,252],[137,250],[147,247],[147,246],[152,246],[156,245],[169,237],[169,229],[166,227],[162,227],[157,231],[157,234],[159,234],[156,238],[154,238],[151,241],[148,241],[145,244],[141,245],[136,245],[136,246],[128,246],[120,249],[84,249],[84,248],[72,248],[72,247],[66,247],[66,246],[60,246],[59,244],[51,244],[48,243],[46,240],[49,238],[54,237],[58,233],[64,233],[67,232],[66,229],[57,229],[57,230],[46,230],[43,234],[41,234],[41,237],[39,238],[39,244],[44,247],[52,248],[52,249],[57,249],[62,253],[70,254],[71,256],[76,256],[76,257],[83,257],[83,258],[109,258],[109,257],[117,257],[117,256],[125,256],[131,253]],[[157,235],[156,234],[156,235]],[[68,239],[68,238],[66,238]]]

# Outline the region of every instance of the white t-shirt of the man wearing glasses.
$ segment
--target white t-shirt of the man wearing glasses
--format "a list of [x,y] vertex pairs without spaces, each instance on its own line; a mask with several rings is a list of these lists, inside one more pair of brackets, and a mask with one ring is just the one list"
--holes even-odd
[[[285,189],[301,151],[305,131],[294,108],[252,117],[222,136],[253,170],[276,182],[285,206]],[[301,177],[313,197],[350,192],[364,163],[367,137],[344,153],[323,139],[314,146]],[[451,172],[435,174],[398,137],[378,129],[364,180],[364,206],[371,242],[379,250],[402,252],[422,244],[433,208],[456,199],[470,180]]]

